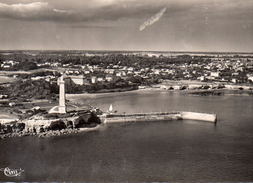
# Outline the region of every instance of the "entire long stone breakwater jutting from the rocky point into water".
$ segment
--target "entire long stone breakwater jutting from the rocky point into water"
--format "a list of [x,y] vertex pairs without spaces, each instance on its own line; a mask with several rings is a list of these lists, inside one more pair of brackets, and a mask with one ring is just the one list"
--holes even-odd
[[100,115],[99,118],[103,123],[169,121],[182,119],[217,122],[216,114],[198,112],[104,113],[103,115]]

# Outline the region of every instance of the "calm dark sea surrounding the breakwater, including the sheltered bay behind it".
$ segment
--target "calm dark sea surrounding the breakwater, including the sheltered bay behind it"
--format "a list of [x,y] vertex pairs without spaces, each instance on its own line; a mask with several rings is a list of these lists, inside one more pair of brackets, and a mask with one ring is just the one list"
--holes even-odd
[[[68,96],[72,100],[74,97]],[[80,134],[0,140],[2,181],[252,181],[252,96],[188,96],[133,91],[75,98],[125,112],[214,112],[218,123],[160,121],[106,124]]]

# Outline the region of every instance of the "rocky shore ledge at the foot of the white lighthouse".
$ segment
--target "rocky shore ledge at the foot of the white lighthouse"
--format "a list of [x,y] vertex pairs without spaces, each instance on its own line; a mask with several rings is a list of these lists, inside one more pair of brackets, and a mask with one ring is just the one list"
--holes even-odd
[[69,112],[67,114],[37,113],[24,120],[6,121],[0,124],[0,138],[53,137],[96,129],[101,123],[94,112]]

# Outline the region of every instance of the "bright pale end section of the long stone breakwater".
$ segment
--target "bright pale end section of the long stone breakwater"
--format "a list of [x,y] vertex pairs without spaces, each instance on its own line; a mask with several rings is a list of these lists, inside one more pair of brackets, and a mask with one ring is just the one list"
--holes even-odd
[[181,112],[182,119],[192,119],[192,120],[200,120],[200,121],[208,121],[208,122],[216,122],[217,114],[207,114],[207,113],[199,113],[199,112]]

